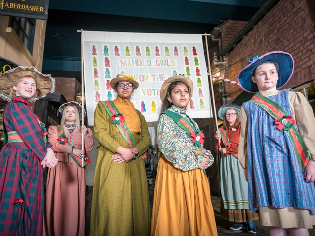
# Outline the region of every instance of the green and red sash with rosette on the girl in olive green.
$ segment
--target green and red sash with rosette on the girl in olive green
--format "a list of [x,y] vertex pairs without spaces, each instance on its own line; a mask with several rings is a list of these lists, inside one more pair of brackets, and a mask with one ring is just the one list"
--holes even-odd
[[[126,142],[130,145],[130,148],[134,148],[136,145],[135,145],[133,136],[131,134],[131,131],[126,124],[125,116],[118,111],[118,108],[115,106],[113,101],[105,101],[102,103],[106,111],[108,112],[108,114],[111,116],[112,123],[116,125],[120,134],[123,136]],[[141,156],[136,156],[136,157],[144,159],[146,155],[143,154]]]

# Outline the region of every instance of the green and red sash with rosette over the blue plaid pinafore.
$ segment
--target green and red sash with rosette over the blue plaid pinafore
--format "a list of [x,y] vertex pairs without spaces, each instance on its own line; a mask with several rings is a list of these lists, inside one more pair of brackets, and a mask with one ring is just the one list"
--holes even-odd
[[294,125],[294,118],[292,116],[288,116],[279,104],[259,93],[256,93],[256,95],[252,97],[251,102],[268,112],[269,115],[275,119],[275,124],[278,125],[277,129],[284,130],[287,133],[292,141],[298,163],[304,172],[305,167],[309,162],[310,155],[307,152],[307,148],[301,135]]

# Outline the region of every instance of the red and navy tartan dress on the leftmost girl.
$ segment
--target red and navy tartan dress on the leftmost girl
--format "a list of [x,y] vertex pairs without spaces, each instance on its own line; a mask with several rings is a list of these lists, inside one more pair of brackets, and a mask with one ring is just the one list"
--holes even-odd
[[[3,114],[7,132],[16,131],[23,142],[6,144],[0,152],[0,235],[41,236],[43,173],[41,160],[50,148],[31,104],[21,97],[9,102]],[[12,203],[18,198],[24,204]]]

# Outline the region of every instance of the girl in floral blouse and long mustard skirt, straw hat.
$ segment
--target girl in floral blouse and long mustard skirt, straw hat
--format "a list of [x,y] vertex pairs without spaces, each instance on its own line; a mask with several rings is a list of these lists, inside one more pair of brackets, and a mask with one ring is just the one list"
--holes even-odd
[[173,76],[162,85],[158,119],[161,157],[154,189],[151,236],[217,236],[210,188],[204,169],[211,152],[202,146],[204,135],[186,114],[193,83]]

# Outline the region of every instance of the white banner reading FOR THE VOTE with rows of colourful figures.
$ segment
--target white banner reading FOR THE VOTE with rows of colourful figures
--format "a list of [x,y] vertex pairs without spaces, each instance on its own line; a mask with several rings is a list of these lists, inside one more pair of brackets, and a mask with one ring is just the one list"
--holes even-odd
[[191,118],[212,116],[200,34],[96,31],[83,31],[82,34],[89,125],[93,125],[97,103],[116,98],[109,81],[119,73],[131,74],[139,83],[130,101],[147,122],[158,121],[160,88],[167,78],[178,74],[193,81],[187,114]]

